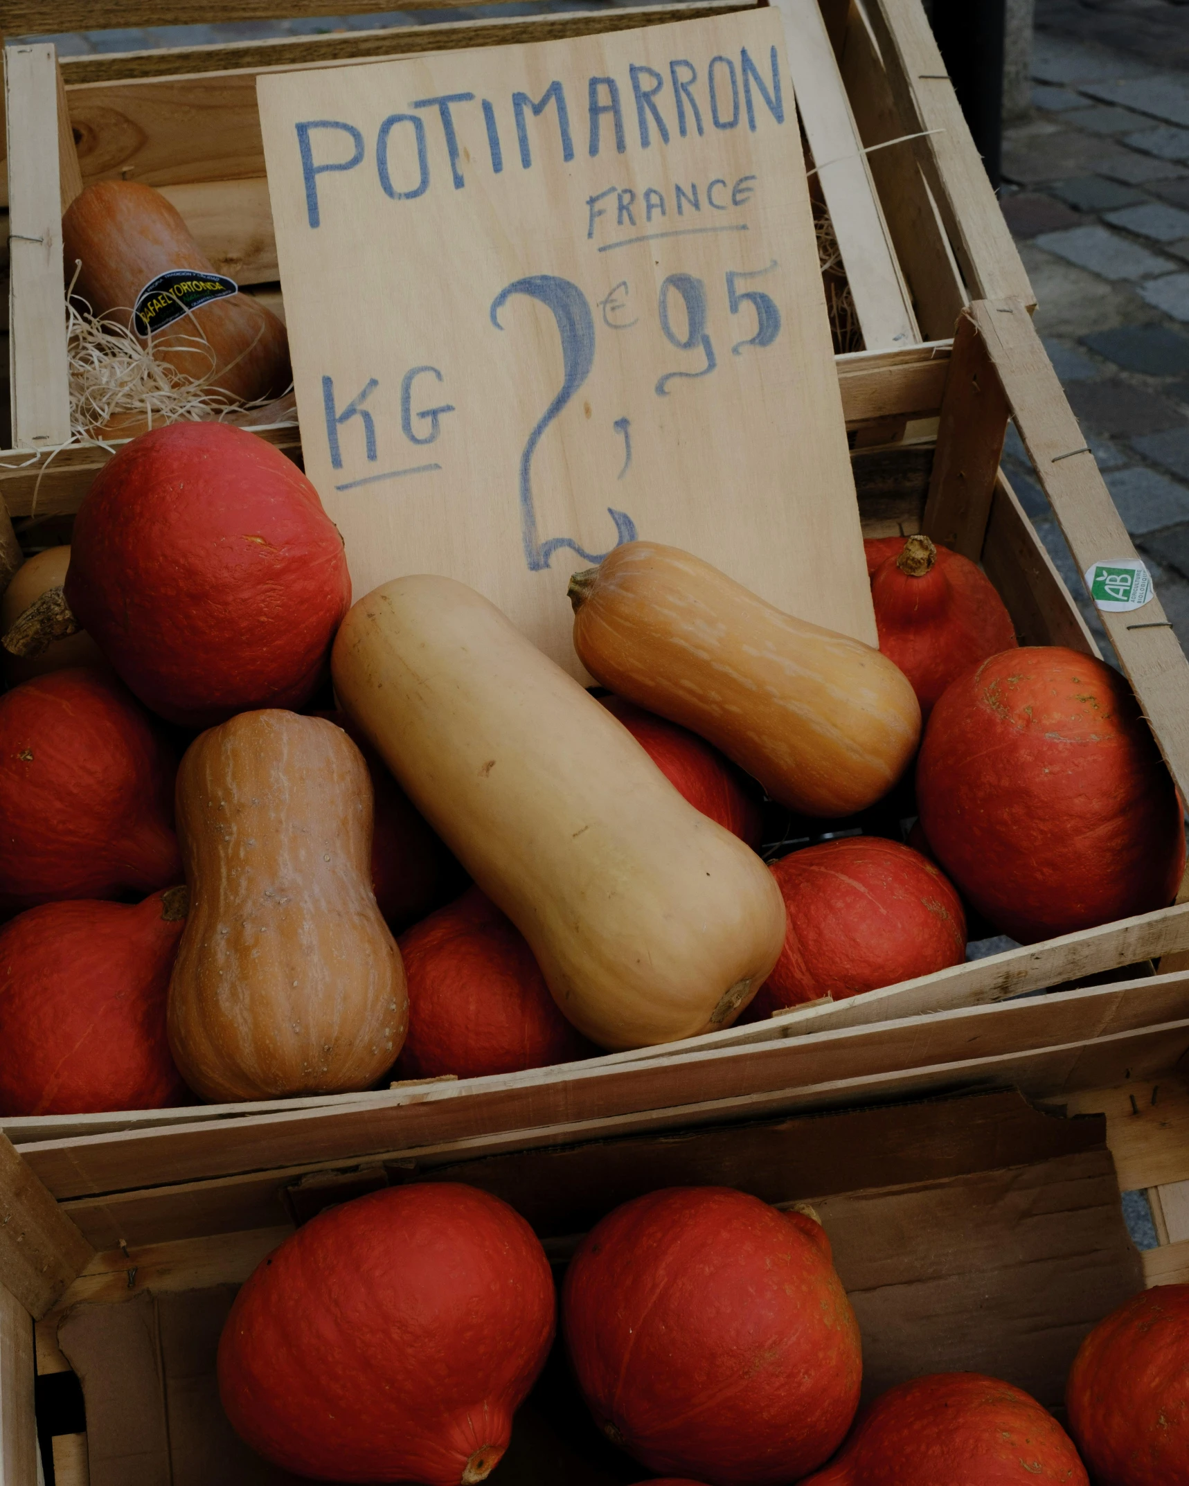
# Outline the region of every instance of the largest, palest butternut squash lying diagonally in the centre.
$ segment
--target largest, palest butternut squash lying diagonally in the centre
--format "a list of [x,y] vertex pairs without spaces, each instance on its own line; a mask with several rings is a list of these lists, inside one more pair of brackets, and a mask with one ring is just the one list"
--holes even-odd
[[780,954],[776,883],[473,588],[388,583],[331,652],[340,704],[600,1048],[730,1025]]

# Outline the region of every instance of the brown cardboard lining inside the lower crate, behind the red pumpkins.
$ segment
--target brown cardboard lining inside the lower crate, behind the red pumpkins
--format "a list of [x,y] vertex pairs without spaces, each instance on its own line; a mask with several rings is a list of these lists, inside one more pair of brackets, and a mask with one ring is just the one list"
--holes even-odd
[[[1164,1112],[1177,1119],[1147,1122],[1158,1147],[1179,1143],[1180,1117],[1189,1117],[1185,1085],[1171,1073],[1161,1080]],[[1140,1086],[1149,1098],[1150,1089]],[[468,1181],[510,1201],[557,1266],[605,1211],[658,1186],[725,1184],[783,1205],[810,1201],[859,1318],[865,1397],[921,1372],[973,1369],[1060,1407],[1085,1333],[1144,1284],[1107,1144],[1118,1131],[1124,1149],[1128,1137],[1135,1146],[1130,1101],[1097,1091],[1076,1106],[1110,1112],[1057,1117],[1005,1091],[511,1152],[424,1178]],[[1128,1180],[1134,1161],[1134,1152],[1122,1158]],[[305,1220],[357,1190],[306,1193],[293,1216]],[[86,1452],[77,1435],[62,1444],[59,1486],[291,1480],[239,1446],[214,1379],[235,1288],[288,1232],[291,1224],[97,1256],[36,1327],[39,1370],[73,1367],[86,1398]],[[612,1486],[641,1474],[597,1435],[554,1358],[492,1480]]]

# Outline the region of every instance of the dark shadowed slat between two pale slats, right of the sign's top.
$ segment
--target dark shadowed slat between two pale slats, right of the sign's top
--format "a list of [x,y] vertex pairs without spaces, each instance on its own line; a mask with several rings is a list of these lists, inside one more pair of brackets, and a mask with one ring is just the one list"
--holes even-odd
[[[954,321],[968,300],[954,254],[945,236],[936,204],[920,172],[917,152],[905,135],[913,132],[901,117],[887,73],[866,16],[858,6],[835,6],[844,16],[841,52],[843,82],[878,192],[880,207],[892,235],[904,276],[913,293],[913,308],[929,340],[953,336]],[[887,149],[871,146],[890,144]]]

